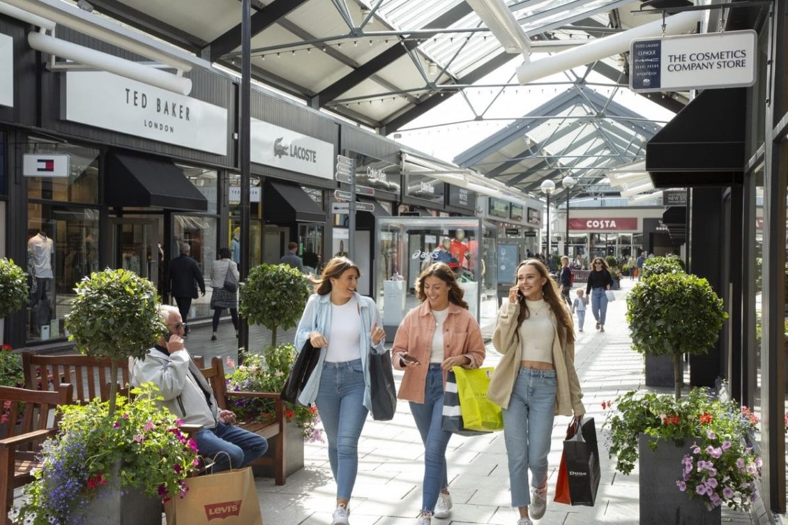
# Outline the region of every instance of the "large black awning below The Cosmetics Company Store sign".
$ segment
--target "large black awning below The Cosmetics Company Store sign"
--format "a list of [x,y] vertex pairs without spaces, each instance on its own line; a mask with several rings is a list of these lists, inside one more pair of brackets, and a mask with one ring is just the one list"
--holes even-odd
[[655,188],[742,184],[746,89],[707,89],[646,144]]

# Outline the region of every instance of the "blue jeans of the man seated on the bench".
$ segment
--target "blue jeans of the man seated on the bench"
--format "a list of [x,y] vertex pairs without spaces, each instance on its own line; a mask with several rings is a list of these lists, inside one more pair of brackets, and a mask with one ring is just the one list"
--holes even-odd
[[232,468],[246,467],[268,450],[266,438],[225,423],[217,423],[216,428],[200,430],[195,435],[195,441],[200,456],[214,458],[216,461],[214,472],[226,471],[231,461]]

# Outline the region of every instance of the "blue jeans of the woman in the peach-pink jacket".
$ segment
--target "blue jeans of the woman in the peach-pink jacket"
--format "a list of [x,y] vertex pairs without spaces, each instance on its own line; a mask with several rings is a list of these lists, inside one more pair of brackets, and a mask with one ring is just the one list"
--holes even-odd
[[411,404],[411,412],[418,433],[424,443],[424,486],[422,510],[435,511],[438,493],[448,487],[446,474],[446,446],[452,433],[443,430],[443,370],[440,364],[430,363],[424,389],[424,403]]

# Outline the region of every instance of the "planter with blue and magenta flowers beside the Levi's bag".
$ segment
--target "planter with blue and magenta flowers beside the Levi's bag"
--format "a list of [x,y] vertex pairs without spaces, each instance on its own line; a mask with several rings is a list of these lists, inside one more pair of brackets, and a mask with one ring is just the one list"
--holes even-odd
[[162,523],[162,498],[184,496],[197,447],[156,404],[152,383],[132,393],[117,397],[113,414],[99,398],[58,408],[60,430],[43,444],[20,523]]

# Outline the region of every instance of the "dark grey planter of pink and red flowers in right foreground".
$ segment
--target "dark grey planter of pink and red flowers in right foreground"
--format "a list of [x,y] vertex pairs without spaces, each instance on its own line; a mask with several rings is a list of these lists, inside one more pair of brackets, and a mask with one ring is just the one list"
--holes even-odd
[[[758,419],[747,407],[712,397],[630,391],[602,403],[615,469],[640,463],[641,525],[720,523],[719,508],[749,509],[758,497],[760,457],[745,439]],[[648,475],[645,475],[648,473]]]

